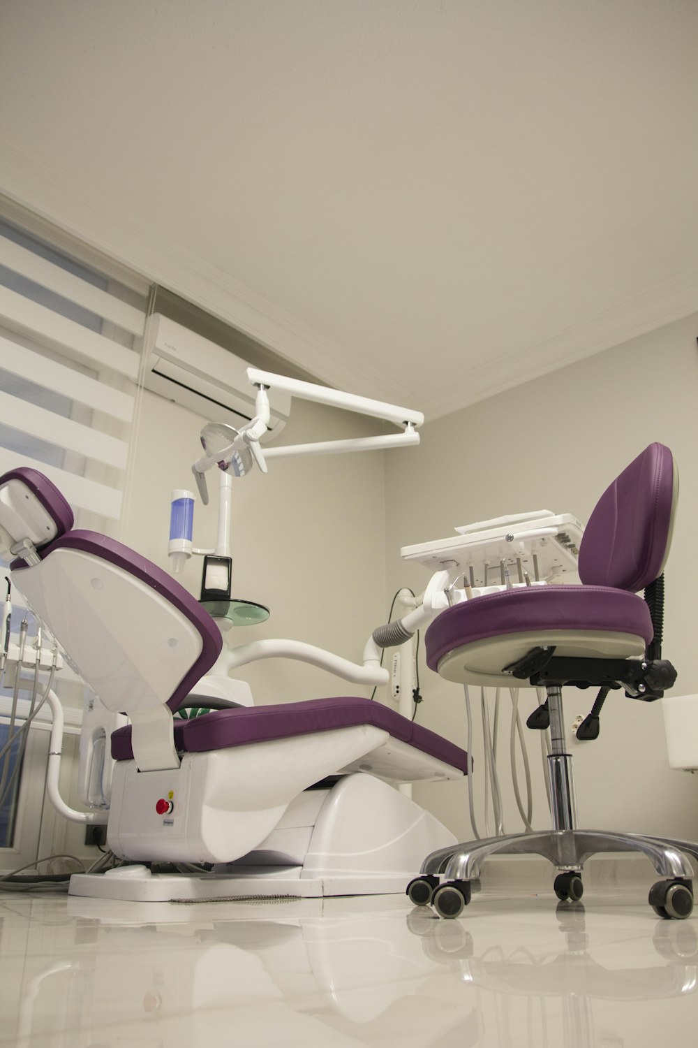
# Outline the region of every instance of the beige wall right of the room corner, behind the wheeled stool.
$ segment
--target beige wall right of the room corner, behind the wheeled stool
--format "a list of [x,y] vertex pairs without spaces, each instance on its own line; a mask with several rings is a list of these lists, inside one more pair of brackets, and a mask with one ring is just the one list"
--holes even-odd
[[[585,521],[614,476],[648,443],[668,444],[677,459],[681,495],[667,567],[665,655],[675,663],[675,694],[698,692],[694,660],[698,519],[698,316],[591,356],[489,400],[428,422],[410,455],[386,455],[387,593],[399,586],[424,589],[429,573],[400,560],[400,547],[453,534],[453,527],[506,512],[547,508]],[[463,692],[442,681],[422,659],[418,720],[461,745],[466,740]],[[533,694],[533,693],[531,693]],[[479,707],[479,690],[475,695]],[[521,824],[511,790],[506,717],[500,735],[500,769],[506,828]],[[586,715],[593,696],[565,692],[568,723]],[[523,709],[533,707],[524,693]],[[479,715],[474,783],[482,795]],[[698,836],[698,778],[668,766],[660,703],[609,696],[596,742],[570,742],[583,826]],[[539,738],[530,737],[535,774],[534,823],[548,814]],[[415,796],[470,836],[464,783],[415,788]],[[481,809],[480,809],[481,810]]]

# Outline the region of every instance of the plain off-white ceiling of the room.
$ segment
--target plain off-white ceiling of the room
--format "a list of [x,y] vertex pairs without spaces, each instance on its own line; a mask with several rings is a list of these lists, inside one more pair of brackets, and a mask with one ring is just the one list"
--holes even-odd
[[428,417],[698,310],[696,0],[0,0],[0,191]]

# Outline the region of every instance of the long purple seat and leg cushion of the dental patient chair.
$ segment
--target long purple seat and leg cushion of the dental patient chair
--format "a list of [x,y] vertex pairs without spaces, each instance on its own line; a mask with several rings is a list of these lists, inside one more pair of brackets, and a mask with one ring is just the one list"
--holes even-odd
[[[203,703],[205,700],[201,701]],[[193,720],[175,719],[175,745],[187,754],[201,754],[313,732],[331,732],[357,724],[374,724],[384,728],[395,739],[459,768],[464,773],[468,771],[468,755],[465,749],[388,709],[381,702],[360,698],[310,699],[307,702],[273,706],[240,706],[234,709],[217,709]],[[130,724],[113,733],[112,757],[116,761],[133,759]]]

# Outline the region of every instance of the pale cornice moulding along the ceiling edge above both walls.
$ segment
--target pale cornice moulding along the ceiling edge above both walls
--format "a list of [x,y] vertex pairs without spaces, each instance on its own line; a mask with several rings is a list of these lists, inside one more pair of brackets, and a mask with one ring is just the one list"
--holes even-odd
[[[543,342],[502,352],[463,378],[410,391],[162,234],[118,212],[97,191],[77,191],[65,172],[3,146],[0,192],[84,243],[189,300],[321,381],[418,408],[428,419],[458,411],[698,311],[698,270],[628,299]],[[368,391],[368,393],[367,393]],[[419,400],[419,403],[416,402]]]

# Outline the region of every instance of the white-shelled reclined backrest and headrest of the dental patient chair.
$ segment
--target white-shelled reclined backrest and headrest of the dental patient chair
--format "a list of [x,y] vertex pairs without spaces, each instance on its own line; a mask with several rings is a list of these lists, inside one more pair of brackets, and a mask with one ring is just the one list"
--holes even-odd
[[5,545],[28,538],[39,547],[39,563],[21,554],[13,562],[13,582],[75,671],[114,713],[177,709],[220,654],[216,623],[166,571],[107,536],[73,530],[72,522],[43,474],[0,477]]

